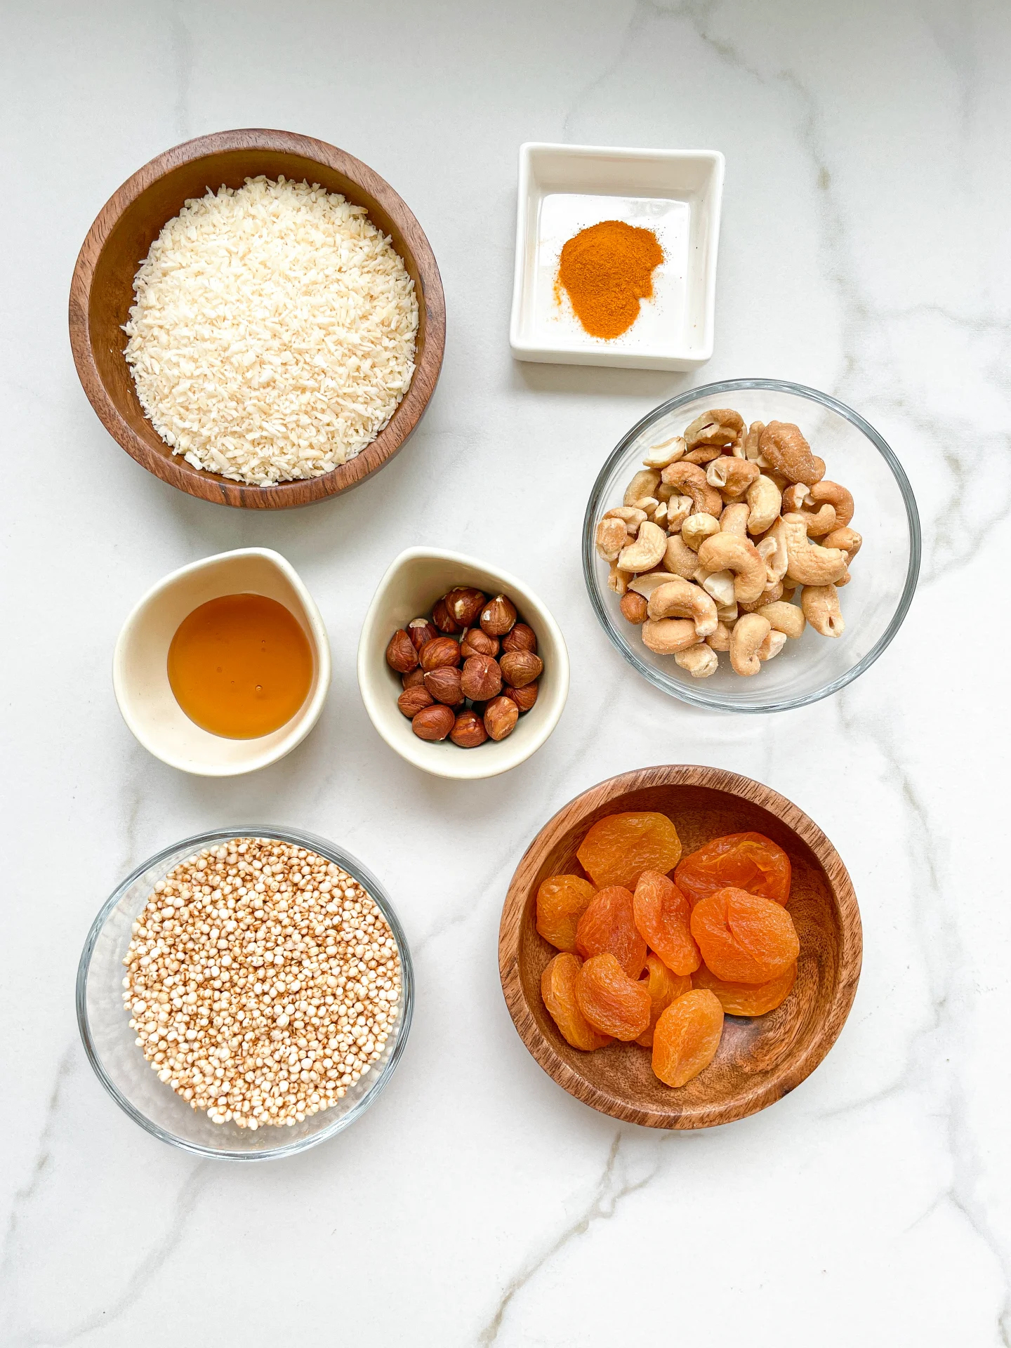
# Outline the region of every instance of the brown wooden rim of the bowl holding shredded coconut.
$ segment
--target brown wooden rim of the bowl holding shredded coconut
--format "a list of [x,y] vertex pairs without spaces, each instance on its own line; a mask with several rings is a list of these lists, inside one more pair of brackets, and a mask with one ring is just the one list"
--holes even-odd
[[[355,458],[330,473],[319,477],[297,479],[278,483],[272,487],[256,487],[249,483],[235,483],[220,473],[195,469],[181,454],[159,453],[151,449],[133,427],[123,418],[119,407],[109,396],[105,381],[92,353],[90,295],[96,267],[105,244],[123,217],[124,212],[151,187],[159,178],[198,159],[235,150],[271,150],[279,154],[299,155],[334,168],[350,178],[364,191],[373,197],[394,220],[400,233],[410,244],[410,252],[421,276],[422,294],[419,306],[426,310],[425,346],[418,360],[407,394],[398,404],[390,423]],[[70,346],[74,365],[88,400],[109,434],[143,468],[163,481],[178,487],[190,496],[213,501],[218,506],[245,506],[255,510],[283,510],[291,506],[307,506],[338,492],[357,487],[368,476],[387,464],[403,446],[422,418],[429,400],[435,391],[442,357],[446,346],[446,299],[442,290],[435,255],[418,222],[403,198],[380,178],[368,164],[325,140],[302,136],[293,131],[272,131],[263,127],[218,131],[208,136],[197,136],[179,146],[173,146],[156,155],[116,189],[94,224],[88,231],[74,266],[70,282]],[[154,427],[152,427],[154,430]],[[156,434],[156,431],[155,431]],[[166,452],[168,446],[166,445]]]

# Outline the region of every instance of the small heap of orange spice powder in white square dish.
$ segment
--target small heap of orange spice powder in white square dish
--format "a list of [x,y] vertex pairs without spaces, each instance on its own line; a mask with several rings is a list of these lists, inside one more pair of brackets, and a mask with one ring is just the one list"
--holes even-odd
[[639,317],[639,301],[652,298],[652,272],[662,262],[652,229],[603,220],[562,248],[555,294],[565,287],[590,337],[620,337]]

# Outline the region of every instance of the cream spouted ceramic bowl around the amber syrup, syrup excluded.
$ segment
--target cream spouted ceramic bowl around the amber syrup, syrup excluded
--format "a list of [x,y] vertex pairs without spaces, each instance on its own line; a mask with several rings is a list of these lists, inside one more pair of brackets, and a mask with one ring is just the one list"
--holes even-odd
[[[295,716],[272,735],[228,740],[186,716],[168,685],[168,646],[194,608],[221,594],[266,594],[298,619],[313,650],[313,682]],[[190,562],[144,594],[116,642],[112,685],[123,720],[155,758],[200,776],[255,772],[290,754],[309,735],[330,686],[324,620],[295,569],[268,547],[243,547]]]

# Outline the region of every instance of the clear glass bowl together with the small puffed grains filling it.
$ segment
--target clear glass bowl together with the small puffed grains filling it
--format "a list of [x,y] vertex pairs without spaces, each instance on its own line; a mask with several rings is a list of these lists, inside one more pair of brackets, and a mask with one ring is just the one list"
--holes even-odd
[[88,933],[77,1020],[120,1108],[198,1155],[270,1161],[346,1128],[407,1041],[414,975],[381,886],[284,828],[139,865]]

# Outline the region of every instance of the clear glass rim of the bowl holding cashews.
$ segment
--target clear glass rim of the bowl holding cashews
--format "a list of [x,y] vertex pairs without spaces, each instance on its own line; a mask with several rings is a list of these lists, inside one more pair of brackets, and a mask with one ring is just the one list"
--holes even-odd
[[[864,437],[874,445],[878,453],[882,456],[884,462],[888,465],[892,477],[899,488],[903,504],[906,507],[906,523],[909,526],[909,565],[906,568],[906,584],[903,585],[899,603],[891,620],[882,635],[878,638],[871,650],[852,665],[844,674],[838,678],[830,679],[828,683],[810,693],[803,693],[797,697],[786,698],[771,698],[756,706],[739,706],[735,702],[728,702],[725,698],[709,697],[701,692],[682,685],[674,681],[663,670],[654,669],[647,665],[646,661],[640,661],[639,656],[627,648],[617,635],[615,624],[611,621],[611,616],[600,597],[600,582],[597,580],[596,561],[597,554],[593,546],[593,530],[597,511],[601,506],[601,497],[604,495],[604,484],[611,474],[612,468],[621,456],[625,453],[628,446],[635,441],[635,438],[646,430],[647,426],[665,417],[667,412],[682,407],[685,403],[694,402],[698,398],[710,398],[720,394],[740,392],[741,390],[763,388],[771,390],[774,392],[794,394],[799,398],[806,398],[810,402],[820,403],[822,407],[828,407],[829,411],[836,412],[855,426]],[[582,519],[582,578],[586,585],[586,593],[589,596],[593,612],[597,615],[597,621],[604,628],[611,644],[619,651],[619,654],[643,675],[654,687],[661,689],[662,693],[667,693],[670,697],[677,697],[682,702],[689,702],[692,706],[701,706],[712,712],[729,712],[729,713],[743,713],[745,716],[751,714],[764,714],[766,712],[789,712],[798,706],[807,706],[811,702],[820,702],[824,697],[830,697],[833,693],[838,693],[848,683],[852,683],[855,678],[859,678],[864,670],[868,670],[882,651],[887,650],[891,644],[895,634],[902,627],[902,623],[909,612],[909,607],[913,603],[913,596],[917,589],[917,580],[919,578],[919,563],[922,557],[922,537],[919,528],[919,511],[917,510],[917,499],[913,495],[913,487],[906,476],[906,472],[895,456],[895,452],[888,445],[888,442],[865,421],[860,412],[853,411],[845,403],[833,398],[830,394],[822,394],[817,388],[810,388],[807,384],[795,384],[786,379],[724,379],[713,384],[700,384],[696,388],[687,388],[681,394],[675,394],[674,398],[669,398],[666,402],[659,403],[651,411],[640,417],[639,421],[628,430],[617,445],[608,454],[604,461],[597,477],[590,489],[589,501],[586,503],[586,514]]]

